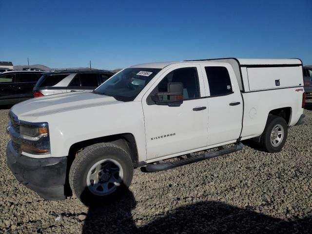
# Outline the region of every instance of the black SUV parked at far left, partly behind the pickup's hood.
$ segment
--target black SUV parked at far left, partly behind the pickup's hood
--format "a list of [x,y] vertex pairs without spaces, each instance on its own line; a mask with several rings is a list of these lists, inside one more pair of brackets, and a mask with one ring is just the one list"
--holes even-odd
[[0,74],[0,105],[16,104],[33,98],[33,88],[42,72],[13,71]]

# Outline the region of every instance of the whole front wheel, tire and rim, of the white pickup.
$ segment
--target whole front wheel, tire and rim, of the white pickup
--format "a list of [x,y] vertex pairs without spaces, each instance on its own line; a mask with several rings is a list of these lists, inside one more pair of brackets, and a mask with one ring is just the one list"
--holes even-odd
[[129,187],[133,163],[128,153],[111,143],[98,143],[79,152],[69,172],[73,193],[85,204],[116,196]]

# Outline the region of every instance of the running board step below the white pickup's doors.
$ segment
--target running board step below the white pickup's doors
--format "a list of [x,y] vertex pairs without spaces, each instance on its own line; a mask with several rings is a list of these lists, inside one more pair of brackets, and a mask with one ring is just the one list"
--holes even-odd
[[213,151],[213,152],[206,152],[206,153],[203,153],[201,155],[191,156],[191,157],[180,159],[180,160],[177,160],[174,162],[147,164],[145,169],[147,172],[165,171],[165,170],[172,169],[175,167],[187,165],[187,164],[190,164],[193,162],[198,162],[198,161],[202,161],[202,160],[217,157],[217,156],[231,154],[235,151],[240,151],[243,148],[244,148],[243,143],[239,142],[237,145],[235,144],[234,146],[232,146],[230,148],[224,148],[224,149],[221,149],[218,151]]

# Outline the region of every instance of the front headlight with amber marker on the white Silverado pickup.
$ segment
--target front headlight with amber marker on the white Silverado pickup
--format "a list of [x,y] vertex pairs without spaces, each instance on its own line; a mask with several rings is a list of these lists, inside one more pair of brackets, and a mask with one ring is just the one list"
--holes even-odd
[[20,148],[26,153],[50,153],[48,123],[36,123],[35,125],[20,123],[20,140]]

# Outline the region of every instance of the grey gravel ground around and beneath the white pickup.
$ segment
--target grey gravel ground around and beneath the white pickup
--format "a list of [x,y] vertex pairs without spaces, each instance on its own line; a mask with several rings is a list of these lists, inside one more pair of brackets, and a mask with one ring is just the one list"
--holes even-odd
[[136,169],[125,196],[86,207],[45,201],[6,165],[0,110],[0,233],[312,233],[312,103],[282,152],[241,152],[158,173]]

